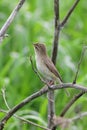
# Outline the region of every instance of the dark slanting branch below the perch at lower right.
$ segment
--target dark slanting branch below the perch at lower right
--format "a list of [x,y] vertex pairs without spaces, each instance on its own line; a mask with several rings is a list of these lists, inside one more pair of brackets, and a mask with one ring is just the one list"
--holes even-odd
[[83,95],[85,94],[84,91],[80,92],[79,94],[75,95],[70,102],[66,105],[66,107],[62,110],[60,116],[63,117],[66,112],[70,109],[70,107]]

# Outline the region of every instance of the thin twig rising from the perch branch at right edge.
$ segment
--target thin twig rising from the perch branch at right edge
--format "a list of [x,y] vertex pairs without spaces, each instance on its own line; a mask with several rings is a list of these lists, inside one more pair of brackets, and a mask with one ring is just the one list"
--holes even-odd
[[87,49],[86,46],[83,47],[82,49],[82,52],[81,52],[81,56],[80,56],[80,60],[78,62],[78,67],[77,67],[77,71],[76,71],[76,74],[75,74],[75,79],[73,81],[73,83],[75,84],[76,83],[76,80],[77,80],[77,76],[78,76],[78,73],[79,73],[79,70],[80,70],[80,65],[82,63],[82,60],[83,60],[83,57],[84,57],[84,54],[85,54],[85,50]]

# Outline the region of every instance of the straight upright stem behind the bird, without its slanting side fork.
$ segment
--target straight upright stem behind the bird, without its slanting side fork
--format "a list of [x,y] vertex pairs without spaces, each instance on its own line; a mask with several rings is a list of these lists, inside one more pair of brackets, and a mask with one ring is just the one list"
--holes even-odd
[[[54,0],[54,15],[55,15],[55,29],[54,29],[54,40],[52,50],[52,61],[56,64],[56,58],[58,53],[58,41],[59,41],[59,0]],[[48,92],[48,128],[53,130],[53,116],[55,115],[55,97],[54,91],[49,90]]]

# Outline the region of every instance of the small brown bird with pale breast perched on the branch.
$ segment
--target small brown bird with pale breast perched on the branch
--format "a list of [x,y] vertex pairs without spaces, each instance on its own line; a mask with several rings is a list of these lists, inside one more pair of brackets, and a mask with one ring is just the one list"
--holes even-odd
[[58,81],[58,83],[61,84],[62,79],[60,74],[51,59],[48,57],[45,45],[42,43],[36,43],[34,44],[34,48],[36,66],[43,78],[49,83]]

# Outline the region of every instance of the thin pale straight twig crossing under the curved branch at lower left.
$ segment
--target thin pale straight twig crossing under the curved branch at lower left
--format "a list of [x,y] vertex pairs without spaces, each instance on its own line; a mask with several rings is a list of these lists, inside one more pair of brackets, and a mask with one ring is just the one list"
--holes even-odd
[[[5,111],[5,110],[3,110],[3,109],[0,109],[0,112],[8,113],[7,111]],[[34,123],[34,122],[32,122],[32,121],[26,120],[25,118],[20,117],[20,116],[18,116],[18,115],[16,115],[16,114],[14,114],[13,117],[15,117],[15,118],[17,118],[17,119],[19,119],[19,120],[21,120],[21,121],[27,123],[27,124],[31,124],[31,125],[33,125],[33,126],[39,127],[39,128],[41,128],[41,129],[50,130],[50,129],[48,129],[48,128],[46,128],[46,127],[43,127],[43,126],[41,126],[41,125],[38,125],[38,124],[36,124],[36,123]]]

